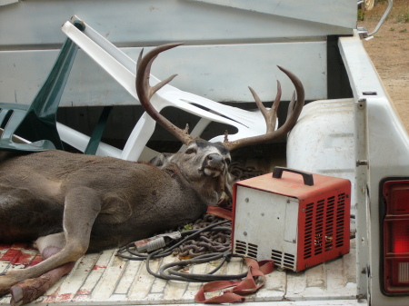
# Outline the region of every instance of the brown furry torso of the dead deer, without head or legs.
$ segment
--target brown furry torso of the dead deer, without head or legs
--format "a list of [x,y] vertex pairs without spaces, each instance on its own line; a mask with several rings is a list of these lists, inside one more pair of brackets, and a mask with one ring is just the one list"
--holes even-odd
[[[92,252],[195,221],[208,204],[215,204],[192,188],[175,163],[159,169],[149,163],[50,151],[0,163],[0,181],[0,242],[29,242],[63,232],[65,198],[80,191],[76,205],[96,199],[98,214],[90,221],[94,226],[88,247]],[[73,218],[82,220],[75,214]]]

